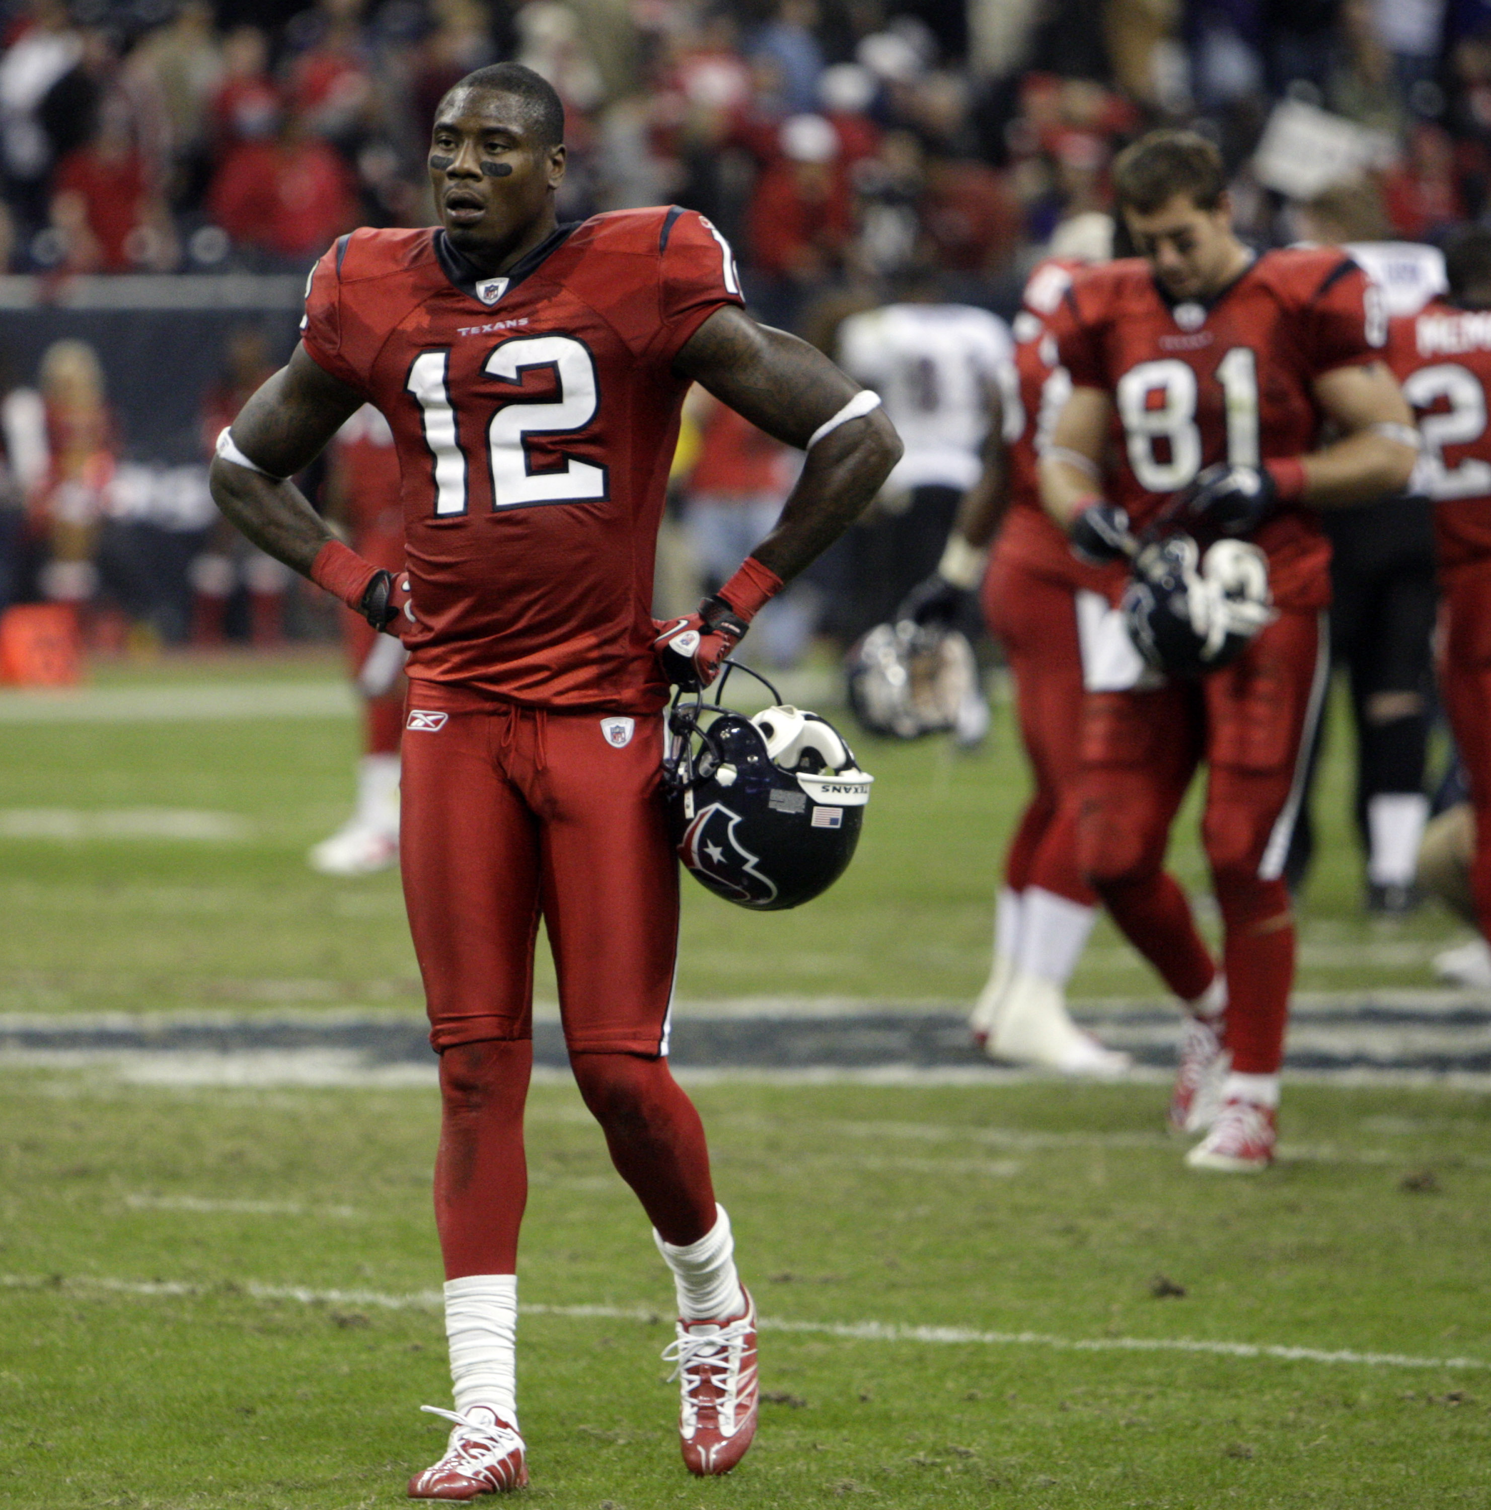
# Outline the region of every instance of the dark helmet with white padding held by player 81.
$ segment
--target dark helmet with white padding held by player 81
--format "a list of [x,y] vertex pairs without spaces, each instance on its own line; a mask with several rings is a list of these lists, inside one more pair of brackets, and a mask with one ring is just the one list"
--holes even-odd
[[1269,562],[1257,545],[1222,539],[1205,556],[1189,535],[1145,545],[1124,589],[1128,637],[1166,676],[1204,676],[1234,661],[1273,619]]

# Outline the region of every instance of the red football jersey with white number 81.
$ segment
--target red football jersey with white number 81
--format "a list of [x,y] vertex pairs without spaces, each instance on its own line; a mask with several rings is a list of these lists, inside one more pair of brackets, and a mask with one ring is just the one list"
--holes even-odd
[[[1060,358],[1113,397],[1109,497],[1142,527],[1204,467],[1311,450],[1317,378],[1381,359],[1387,317],[1366,275],[1331,248],[1264,252],[1210,304],[1175,302],[1138,258],[1068,290]],[[1273,601],[1323,607],[1331,547],[1316,513],[1280,509],[1254,536]]]

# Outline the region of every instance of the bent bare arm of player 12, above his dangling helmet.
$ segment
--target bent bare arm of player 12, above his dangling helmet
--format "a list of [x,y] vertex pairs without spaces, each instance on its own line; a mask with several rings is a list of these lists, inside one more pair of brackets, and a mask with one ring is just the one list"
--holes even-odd
[[[860,391],[807,341],[757,325],[733,305],[695,331],[675,365],[758,429],[798,447]],[[796,577],[864,512],[900,450],[881,409],[831,430],[808,450],[776,528],[752,551],[755,559],[783,581]]]

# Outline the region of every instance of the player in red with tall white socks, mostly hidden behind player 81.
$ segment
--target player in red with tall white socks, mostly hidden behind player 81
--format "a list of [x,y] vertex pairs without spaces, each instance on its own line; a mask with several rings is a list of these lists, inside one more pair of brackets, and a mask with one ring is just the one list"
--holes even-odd
[[[1107,230],[1110,240],[1112,223]],[[1106,258],[1107,249],[1098,251],[1094,260]],[[1053,260],[1030,275],[983,476],[964,497],[937,572],[902,612],[917,622],[952,622],[962,599],[982,586],[985,619],[1014,676],[1020,737],[1035,782],[1005,858],[994,962],[968,1019],[973,1036],[991,1059],[1068,1075],[1113,1075],[1127,1068],[1127,1055],[1103,1048],[1071,1021],[1065,989],[1092,932],[1097,901],[1077,864],[1079,631],[1083,612],[1107,610],[1124,568],[1086,566],[1073,556],[1041,507],[1036,477],[1042,426],[1070,387],[1056,362],[1051,322],[1060,319],[1080,266]]]

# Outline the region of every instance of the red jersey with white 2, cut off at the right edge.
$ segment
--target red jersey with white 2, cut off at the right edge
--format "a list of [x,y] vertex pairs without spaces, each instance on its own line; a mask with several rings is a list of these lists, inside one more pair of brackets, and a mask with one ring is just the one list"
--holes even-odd
[[1440,566],[1491,560],[1491,311],[1434,299],[1393,320],[1388,365],[1423,436],[1412,486],[1434,500]]

